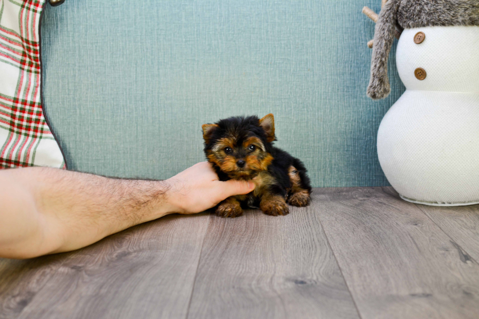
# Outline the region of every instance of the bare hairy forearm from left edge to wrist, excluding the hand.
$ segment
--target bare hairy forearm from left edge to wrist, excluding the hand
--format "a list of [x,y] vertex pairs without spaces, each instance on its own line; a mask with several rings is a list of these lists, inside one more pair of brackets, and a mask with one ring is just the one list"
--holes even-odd
[[[167,182],[24,168],[0,172],[9,209],[0,212],[0,255],[33,257],[78,249],[177,211]],[[5,196],[7,194],[7,196]],[[15,227],[11,227],[15,225]]]

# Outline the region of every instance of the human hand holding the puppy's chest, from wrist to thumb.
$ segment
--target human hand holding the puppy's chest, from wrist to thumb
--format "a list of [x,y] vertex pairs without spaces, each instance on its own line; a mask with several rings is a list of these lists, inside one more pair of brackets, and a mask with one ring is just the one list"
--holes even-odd
[[227,197],[247,194],[255,189],[253,182],[218,179],[208,162],[200,162],[165,181],[169,190],[168,202],[175,213],[200,213],[215,207]]

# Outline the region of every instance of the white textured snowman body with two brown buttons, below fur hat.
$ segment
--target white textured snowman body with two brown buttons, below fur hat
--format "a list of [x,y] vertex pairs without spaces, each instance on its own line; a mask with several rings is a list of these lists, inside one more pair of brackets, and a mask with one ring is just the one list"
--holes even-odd
[[[374,46],[381,48],[381,40],[375,37]],[[377,54],[372,77],[380,74],[374,69]],[[479,26],[405,28],[396,64],[406,92],[384,116],[377,137],[388,181],[415,203],[479,203]],[[382,98],[381,89],[389,91],[389,86],[381,85],[371,78],[369,95]]]

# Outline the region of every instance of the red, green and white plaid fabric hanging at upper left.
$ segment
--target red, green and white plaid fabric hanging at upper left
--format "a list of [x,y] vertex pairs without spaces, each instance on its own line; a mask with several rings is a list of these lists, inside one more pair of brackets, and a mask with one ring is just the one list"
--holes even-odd
[[40,18],[45,0],[0,0],[0,168],[65,169],[41,100]]

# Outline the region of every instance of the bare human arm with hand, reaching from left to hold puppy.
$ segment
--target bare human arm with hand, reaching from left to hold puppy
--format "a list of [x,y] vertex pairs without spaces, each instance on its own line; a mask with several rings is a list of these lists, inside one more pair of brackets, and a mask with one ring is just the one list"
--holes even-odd
[[170,213],[202,212],[253,189],[252,183],[219,181],[207,162],[165,181],[50,168],[1,170],[0,256],[75,250]]

